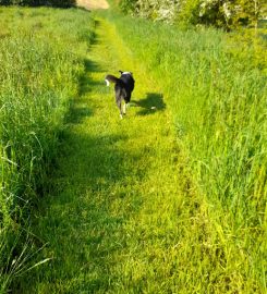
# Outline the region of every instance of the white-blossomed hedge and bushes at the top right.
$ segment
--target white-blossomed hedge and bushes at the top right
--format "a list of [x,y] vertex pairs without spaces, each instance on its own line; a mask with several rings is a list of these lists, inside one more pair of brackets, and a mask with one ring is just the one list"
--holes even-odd
[[147,19],[227,29],[257,26],[267,15],[265,0],[121,0],[119,5],[124,13]]

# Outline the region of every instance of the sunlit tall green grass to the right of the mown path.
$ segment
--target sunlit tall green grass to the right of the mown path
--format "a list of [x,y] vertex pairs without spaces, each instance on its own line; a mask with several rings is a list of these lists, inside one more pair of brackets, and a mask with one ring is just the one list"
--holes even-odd
[[190,232],[178,236],[177,266],[183,270],[177,279],[187,291],[181,293],[265,293],[267,93],[266,59],[258,56],[264,50],[215,29],[110,20],[161,85],[182,150],[181,170],[192,179],[186,188],[198,194],[190,204]]

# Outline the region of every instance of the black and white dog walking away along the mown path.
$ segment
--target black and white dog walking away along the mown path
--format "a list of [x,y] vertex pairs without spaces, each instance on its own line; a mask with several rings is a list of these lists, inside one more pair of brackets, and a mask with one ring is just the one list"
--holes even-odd
[[[134,89],[134,78],[133,73],[131,72],[122,72],[120,77],[116,77],[111,74],[108,74],[105,77],[107,86],[110,83],[114,83],[114,91],[116,91],[116,103],[120,110],[120,117],[126,113],[126,106],[131,100],[131,95]],[[124,101],[124,103],[123,103]]]

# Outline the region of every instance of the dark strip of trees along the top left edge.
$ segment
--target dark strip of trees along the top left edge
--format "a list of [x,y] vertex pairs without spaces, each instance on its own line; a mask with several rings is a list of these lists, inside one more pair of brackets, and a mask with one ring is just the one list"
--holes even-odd
[[75,0],[0,0],[0,5],[28,5],[28,7],[58,7],[71,8],[76,3]]

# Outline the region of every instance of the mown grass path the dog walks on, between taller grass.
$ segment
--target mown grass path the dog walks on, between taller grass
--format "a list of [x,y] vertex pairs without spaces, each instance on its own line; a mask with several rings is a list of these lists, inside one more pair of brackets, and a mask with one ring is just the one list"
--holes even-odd
[[[96,30],[81,98],[63,132],[53,191],[35,225],[48,243],[43,254],[53,259],[25,281],[25,293],[166,293],[174,285],[183,200],[172,121],[157,81],[134,61],[113,26],[100,20]],[[118,70],[132,71],[136,79],[123,120],[113,88],[104,82]]]

